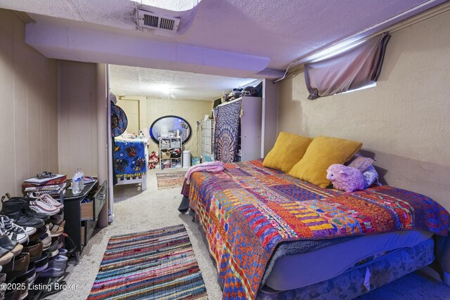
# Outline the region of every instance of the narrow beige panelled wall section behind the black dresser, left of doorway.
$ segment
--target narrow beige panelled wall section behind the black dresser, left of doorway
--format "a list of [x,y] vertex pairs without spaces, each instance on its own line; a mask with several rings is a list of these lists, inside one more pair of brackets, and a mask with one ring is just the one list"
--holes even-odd
[[81,168],[98,175],[97,77],[94,63],[60,60],[58,150],[59,171],[72,178]]

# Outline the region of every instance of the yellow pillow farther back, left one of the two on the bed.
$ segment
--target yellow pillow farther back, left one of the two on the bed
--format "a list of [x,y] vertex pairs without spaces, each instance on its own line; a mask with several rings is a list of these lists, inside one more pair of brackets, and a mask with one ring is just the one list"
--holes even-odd
[[288,173],[302,159],[313,138],[281,131],[262,165]]

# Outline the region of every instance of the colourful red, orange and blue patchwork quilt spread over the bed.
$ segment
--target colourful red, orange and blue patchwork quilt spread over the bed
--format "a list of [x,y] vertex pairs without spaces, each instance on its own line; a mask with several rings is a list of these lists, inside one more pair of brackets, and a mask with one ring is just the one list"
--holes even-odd
[[280,242],[428,230],[446,235],[449,213],[429,197],[390,186],[354,193],[319,188],[262,160],[198,172],[184,185],[217,263],[223,299],[255,299]]

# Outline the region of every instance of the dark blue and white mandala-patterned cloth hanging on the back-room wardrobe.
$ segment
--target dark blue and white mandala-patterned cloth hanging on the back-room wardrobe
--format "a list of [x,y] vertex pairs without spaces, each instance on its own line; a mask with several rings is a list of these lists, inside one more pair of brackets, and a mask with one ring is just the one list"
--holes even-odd
[[214,159],[235,162],[238,152],[240,101],[214,108]]

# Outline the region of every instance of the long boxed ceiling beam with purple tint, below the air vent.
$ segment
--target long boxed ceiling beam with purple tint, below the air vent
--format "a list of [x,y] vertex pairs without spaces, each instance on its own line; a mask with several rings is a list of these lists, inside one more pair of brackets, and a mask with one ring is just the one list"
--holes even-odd
[[270,58],[212,48],[150,41],[124,34],[29,23],[25,41],[47,58],[179,70],[232,77],[251,77]]

